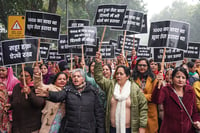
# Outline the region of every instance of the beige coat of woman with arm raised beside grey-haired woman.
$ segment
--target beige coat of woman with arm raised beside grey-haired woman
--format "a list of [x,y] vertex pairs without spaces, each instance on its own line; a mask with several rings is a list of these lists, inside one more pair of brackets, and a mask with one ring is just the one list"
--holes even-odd
[[[43,89],[49,88],[50,91],[60,91],[61,88],[57,87],[56,85],[50,84],[45,85],[42,82],[42,76],[36,76],[34,75],[34,86],[35,88],[40,87]],[[61,109],[62,111],[62,117],[65,114],[65,104],[63,103],[54,103],[51,101],[46,101],[45,107],[42,110],[42,118],[41,118],[41,128],[39,133],[49,133],[52,123],[55,119],[55,116],[57,114],[58,109]]]

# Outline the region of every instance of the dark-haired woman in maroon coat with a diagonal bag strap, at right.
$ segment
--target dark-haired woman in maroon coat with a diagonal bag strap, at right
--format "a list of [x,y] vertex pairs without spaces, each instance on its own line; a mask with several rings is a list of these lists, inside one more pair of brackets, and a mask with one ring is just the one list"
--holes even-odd
[[[195,128],[200,129],[200,116],[196,107],[196,96],[193,88],[186,84],[188,73],[183,67],[177,67],[172,73],[170,85],[156,88],[152,94],[152,101],[156,104],[163,103],[164,119],[161,133],[194,133]],[[162,82],[162,74],[158,76]],[[192,123],[180,103],[186,107],[194,123]]]

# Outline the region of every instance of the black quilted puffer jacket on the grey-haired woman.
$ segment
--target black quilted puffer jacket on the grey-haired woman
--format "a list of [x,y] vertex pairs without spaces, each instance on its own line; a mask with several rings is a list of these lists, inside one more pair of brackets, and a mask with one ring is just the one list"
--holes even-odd
[[62,120],[61,133],[105,133],[104,109],[91,84],[87,83],[81,93],[73,85],[66,86],[60,92],[49,92],[49,100],[65,100],[66,114]]

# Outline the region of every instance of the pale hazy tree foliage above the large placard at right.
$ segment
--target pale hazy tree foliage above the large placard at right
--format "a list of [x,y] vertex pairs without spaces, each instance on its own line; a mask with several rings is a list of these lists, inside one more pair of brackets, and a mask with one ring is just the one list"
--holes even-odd
[[200,38],[200,4],[188,5],[184,1],[175,1],[171,7],[166,7],[159,14],[154,15],[151,21],[178,20],[190,24],[189,41],[199,42]]

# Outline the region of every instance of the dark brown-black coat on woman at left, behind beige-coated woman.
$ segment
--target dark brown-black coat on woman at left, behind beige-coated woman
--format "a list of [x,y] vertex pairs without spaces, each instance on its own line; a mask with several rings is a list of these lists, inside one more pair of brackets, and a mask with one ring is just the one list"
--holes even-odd
[[10,99],[11,109],[13,110],[12,129],[13,133],[31,133],[40,129],[41,111],[44,107],[44,99],[35,95],[35,89],[30,87],[31,92],[28,99],[21,93],[20,84],[15,85]]

